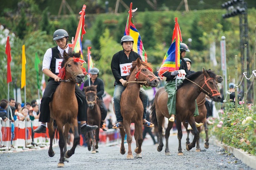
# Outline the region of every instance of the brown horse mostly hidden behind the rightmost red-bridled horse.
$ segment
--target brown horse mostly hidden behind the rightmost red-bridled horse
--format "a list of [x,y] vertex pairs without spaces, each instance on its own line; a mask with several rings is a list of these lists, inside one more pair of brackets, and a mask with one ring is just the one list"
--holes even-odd
[[[221,83],[223,81],[223,78],[222,76],[220,75],[217,75],[216,76],[216,81],[218,83]],[[206,105],[204,105],[204,103],[206,102],[206,94],[204,93],[200,93],[200,95],[196,98],[196,103],[197,104],[197,107],[198,107],[198,112],[199,112],[199,115],[195,117],[195,121],[197,123],[203,123],[203,126],[204,126],[204,132],[206,133],[206,142],[204,143],[204,148],[208,149],[209,148],[209,137],[208,137],[208,127],[207,127],[207,120],[206,120],[206,116],[207,116],[207,109],[206,109]],[[184,127],[186,128],[186,131],[187,131],[187,142],[186,142],[186,145],[188,145],[190,142],[189,142],[189,133],[190,133],[190,130],[188,130],[188,124],[186,123],[186,121],[183,121],[182,122]],[[201,132],[201,127],[197,127],[197,130],[199,132],[199,138],[197,138],[196,140],[196,152],[200,152],[201,149],[200,149],[200,132]],[[193,133],[193,132],[192,132]]]

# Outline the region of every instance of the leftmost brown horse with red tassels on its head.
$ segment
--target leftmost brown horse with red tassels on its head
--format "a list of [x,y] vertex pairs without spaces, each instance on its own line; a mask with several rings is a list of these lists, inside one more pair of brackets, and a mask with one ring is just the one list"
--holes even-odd
[[[82,69],[82,62],[85,61],[81,60],[79,58],[80,56],[80,53],[63,52],[64,59],[61,63],[60,69],[60,76],[62,80],[59,86],[56,88],[52,101],[49,104],[50,121],[47,123],[47,127],[49,130],[50,147],[48,150],[48,155],[50,157],[55,155],[52,145],[57,125],[60,147],[60,162],[58,163],[58,168],[64,167],[64,161],[68,162],[67,158],[75,153],[75,148],[80,141],[77,120],[78,101],[75,96],[76,83],[81,84],[85,78],[84,70]],[[63,126],[65,126],[64,133]],[[74,143],[72,148],[67,151],[67,139],[70,127],[74,133]]]

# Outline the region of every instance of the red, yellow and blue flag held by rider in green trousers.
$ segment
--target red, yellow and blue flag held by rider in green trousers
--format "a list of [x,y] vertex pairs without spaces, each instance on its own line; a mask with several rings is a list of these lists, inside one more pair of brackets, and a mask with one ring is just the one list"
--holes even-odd
[[181,30],[178,25],[178,18],[175,17],[173,39],[171,46],[163,58],[162,65],[158,71],[159,77],[163,78],[163,73],[172,72],[180,68],[180,43],[182,42]]

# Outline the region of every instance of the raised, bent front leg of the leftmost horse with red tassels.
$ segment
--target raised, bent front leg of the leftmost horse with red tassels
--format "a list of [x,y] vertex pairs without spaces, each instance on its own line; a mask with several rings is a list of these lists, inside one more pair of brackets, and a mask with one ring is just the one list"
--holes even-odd
[[75,148],[80,141],[80,135],[78,133],[78,121],[76,118],[73,119],[71,128],[72,128],[72,132],[74,133],[74,142],[73,142],[72,148],[65,153],[65,156],[67,158],[69,158],[70,156],[72,156],[75,153]]

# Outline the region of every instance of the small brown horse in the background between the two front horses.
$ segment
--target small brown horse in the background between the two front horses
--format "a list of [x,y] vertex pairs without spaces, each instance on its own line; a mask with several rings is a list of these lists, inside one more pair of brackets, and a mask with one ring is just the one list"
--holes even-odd
[[[97,99],[97,85],[91,85],[84,87],[85,89],[85,96],[86,96],[86,101],[88,104],[87,108],[87,117],[88,125],[97,125],[98,128],[96,128],[95,132],[90,131],[87,133],[88,135],[88,150],[90,151],[93,146],[92,154],[96,153],[96,149],[98,149],[98,143],[100,141],[99,138],[99,133],[100,133],[100,122],[101,122],[101,111],[100,111],[100,106],[99,103],[102,102],[99,99]],[[94,136],[95,133],[95,136]],[[96,144],[95,144],[96,143]]]

